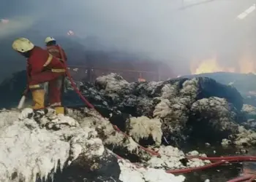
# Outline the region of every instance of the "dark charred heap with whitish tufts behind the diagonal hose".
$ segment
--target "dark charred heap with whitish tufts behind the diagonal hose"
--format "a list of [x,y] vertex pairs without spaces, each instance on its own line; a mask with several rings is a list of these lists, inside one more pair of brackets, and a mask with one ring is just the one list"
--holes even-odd
[[129,83],[109,74],[94,84],[79,85],[103,116],[142,145],[220,144],[223,139],[241,145],[236,135],[244,131],[240,124],[246,121],[243,98],[236,88],[214,79]]

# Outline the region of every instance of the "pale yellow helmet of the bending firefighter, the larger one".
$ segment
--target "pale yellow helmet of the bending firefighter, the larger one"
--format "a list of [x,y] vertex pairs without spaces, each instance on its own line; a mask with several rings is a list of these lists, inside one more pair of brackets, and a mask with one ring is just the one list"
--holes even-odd
[[12,43],[12,49],[18,52],[28,52],[34,48],[34,44],[26,38],[18,38]]

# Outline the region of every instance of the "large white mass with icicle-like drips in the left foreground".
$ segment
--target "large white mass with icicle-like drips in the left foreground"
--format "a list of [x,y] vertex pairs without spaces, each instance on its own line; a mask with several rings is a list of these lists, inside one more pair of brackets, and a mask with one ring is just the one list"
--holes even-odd
[[34,119],[26,118],[30,111],[26,108],[21,114],[0,112],[0,120],[8,120],[0,130],[0,181],[12,181],[13,173],[18,175],[14,181],[35,181],[37,174],[48,178],[58,164],[62,170],[67,159],[73,161],[81,153],[89,158],[102,156],[105,148],[93,128],[78,127],[74,119],[58,116],[59,123],[55,124],[61,125],[61,118],[64,123],[61,130],[46,130]]

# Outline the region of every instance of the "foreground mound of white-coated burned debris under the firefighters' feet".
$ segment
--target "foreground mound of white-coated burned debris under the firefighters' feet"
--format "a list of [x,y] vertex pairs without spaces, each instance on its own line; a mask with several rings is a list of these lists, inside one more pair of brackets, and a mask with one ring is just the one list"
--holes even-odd
[[[94,111],[68,112],[69,116],[56,115],[53,109],[0,111],[0,181],[182,182],[183,175],[166,173],[165,168],[208,164],[195,159],[184,164],[184,153],[171,146],[159,149],[161,158],[148,156]],[[108,144],[147,159],[138,167],[105,148]]]

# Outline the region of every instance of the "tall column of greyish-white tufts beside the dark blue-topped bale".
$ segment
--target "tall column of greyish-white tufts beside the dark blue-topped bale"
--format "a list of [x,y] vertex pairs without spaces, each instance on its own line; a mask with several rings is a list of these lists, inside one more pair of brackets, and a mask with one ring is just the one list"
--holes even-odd
[[178,82],[173,84],[164,84],[159,100],[154,107],[154,118],[162,119],[165,127],[162,130],[180,132],[188,120],[189,104],[195,101],[198,92],[198,79],[185,81],[180,88]]

